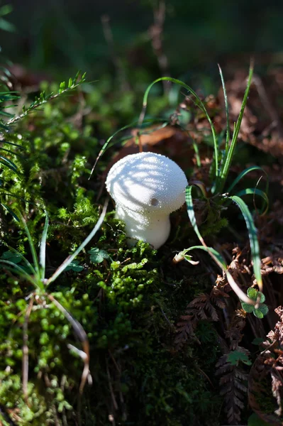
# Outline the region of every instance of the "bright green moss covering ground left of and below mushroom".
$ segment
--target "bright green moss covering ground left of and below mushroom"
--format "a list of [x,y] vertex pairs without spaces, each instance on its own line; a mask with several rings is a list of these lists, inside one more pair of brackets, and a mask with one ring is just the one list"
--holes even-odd
[[[103,93],[99,102],[95,94],[86,95],[94,97],[89,101],[92,107],[110,109],[104,123],[98,125],[97,118],[89,116],[78,129],[72,119],[74,105],[61,99],[19,121],[14,133],[7,135],[25,149],[25,157],[15,158],[21,178],[9,169],[2,176],[20,198],[1,193],[1,201],[25,214],[37,249],[43,211],[48,211],[47,277],[82,243],[99,217],[99,203],[104,202],[96,197],[109,158],[106,155],[105,162],[99,162],[88,180],[101,148],[91,129],[110,129],[115,114],[117,120],[133,119],[134,99],[125,97],[121,110],[118,100],[114,106],[107,105],[101,101]],[[2,216],[0,256],[9,244],[32,262],[21,225],[7,212]],[[191,232],[186,221],[180,239],[187,244]],[[95,263],[88,253],[91,249],[109,257]],[[99,233],[76,259],[81,271],[65,271],[47,289],[87,333],[92,386],[87,385],[79,396],[84,365],[72,346],[82,346],[62,312],[41,295],[33,300],[26,320],[28,405],[21,385],[23,324],[34,289],[1,268],[0,407],[9,409],[17,425],[72,426],[81,421],[85,426],[105,426],[112,424],[111,415],[120,425],[218,425],[221,398],[211,376],[218,344],[212,324],[199,324],[200,345],[194,341],[184,351],[174,348],[174,324],[194,295],[211,284],[193,277],[189,265],[172,264],[175,249],[173,242],[157,253],[142,241],[129,249],[123,224],[114,212],[106,214]]]

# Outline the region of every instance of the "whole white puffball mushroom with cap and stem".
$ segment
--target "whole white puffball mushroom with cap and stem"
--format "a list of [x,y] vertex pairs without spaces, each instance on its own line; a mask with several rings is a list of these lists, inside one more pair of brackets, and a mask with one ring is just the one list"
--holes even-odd
[[170,234],[170,213],[185,202],[186,175],[156,153],[127,155],[115,163],[106,188],[116,202],[116,217],[126,224],[129,244],[143,240],[158,249]]

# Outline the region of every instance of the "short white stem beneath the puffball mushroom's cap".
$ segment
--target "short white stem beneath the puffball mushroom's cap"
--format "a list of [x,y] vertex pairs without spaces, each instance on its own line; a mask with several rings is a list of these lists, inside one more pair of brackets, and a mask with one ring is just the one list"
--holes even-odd
[[133,212],[117,203],[116,217],[125,222],[126,234],[129,237],[128,244],[131,246],[138,240],[143,240],[151,244],[154,249],[159,249],[170,234],[169,214]]

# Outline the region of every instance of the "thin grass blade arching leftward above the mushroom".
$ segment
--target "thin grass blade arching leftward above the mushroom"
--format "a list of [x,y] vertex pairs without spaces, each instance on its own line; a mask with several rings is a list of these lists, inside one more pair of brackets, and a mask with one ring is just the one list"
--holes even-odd
[[182,86],[182,87],[184,87],[184,89],[187,89],[189,92],[191,92],[193,94],[193,96],[196,98],[197,102],[194,101],[196,106],[199,107],[199,109],[201,109],[201,111],[203,111],[204,114],[206,114],[206,119],[208,119],[208,121],[209,121],[209,125],[211,126],[211,133],[212,133],[212,136],[213,136],[215,170],[216,170],[216,176],[218,176],[218,174],[219,174],[219,170],[218,170],[218,141],[217,141],[216,131],[215,131],[215,128],[213,126],[213,122],[211,121],[209,113],[206,111],[206,107],[204,107],[204,103],[201,101],[198,94],[196,94],[196,92],[194,92],[194,90],[191,87],[189,87],[187,84],[185,84],[181,80],[177,80],[177,79],[172,78],[172,77],[160,77],[160,78],[157,78],[157,80],[155,80],[154,82],[152,82],[148,86],[148,88],[145,90],[145,94],[144,94],[144,97],[143,97],[143,109],[140,113],[140,119],[139,119],[138,123],[140,125],[143,124],[143,120],[145,118],[145,111],[146,111],[146,108],[148,106],[148,94],[150,92],[150,89],[152,88],[152,86],[155,83],[162,82],[162,81],[165,81],[165,80],[172,82],[172,83],[175,83],[175,84],[179,84],[179,86]]

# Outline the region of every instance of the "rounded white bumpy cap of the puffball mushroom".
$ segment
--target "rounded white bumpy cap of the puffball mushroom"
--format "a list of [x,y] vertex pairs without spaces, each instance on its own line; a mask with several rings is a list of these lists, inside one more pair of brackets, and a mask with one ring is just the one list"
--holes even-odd
[[185,202],[186,175],[179,165],[156,153],[127,155],[109,170],[106,188],[126,209],[170,214]]

